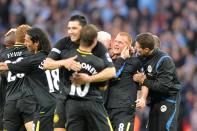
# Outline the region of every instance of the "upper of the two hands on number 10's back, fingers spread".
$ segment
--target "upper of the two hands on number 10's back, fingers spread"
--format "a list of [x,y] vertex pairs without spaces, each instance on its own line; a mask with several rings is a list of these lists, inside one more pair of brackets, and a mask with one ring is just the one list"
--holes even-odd
[[75,60],[76,58],[77,56],[65,59],[63,66],[68,70],[73,70],[76,72],[81,70],[81,64]]

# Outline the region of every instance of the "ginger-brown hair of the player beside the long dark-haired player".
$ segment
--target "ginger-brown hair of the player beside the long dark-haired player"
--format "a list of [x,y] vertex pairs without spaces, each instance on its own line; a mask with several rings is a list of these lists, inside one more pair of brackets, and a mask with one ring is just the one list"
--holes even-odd
[[27,34],[27,30],[31,27],[29,25],[20,25],[16,28],[16,42],[24,43],[25,42],[25,35]]

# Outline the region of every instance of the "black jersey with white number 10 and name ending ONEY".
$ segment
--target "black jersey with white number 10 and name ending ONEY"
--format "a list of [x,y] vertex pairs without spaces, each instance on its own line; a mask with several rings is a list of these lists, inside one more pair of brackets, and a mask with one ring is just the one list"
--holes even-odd
[[[88,75],[94,75],[103,70],[106,65],[102,59],[94,56],[92,53],[87,53],[80,51],[79,49],[70,50],[65,53],[63,58],[69,58],[77,55],[77,61],[81,64],[80,73],[86,73]],[[102,102],[102,95],[99,87],[105,86],[105,82],[94,82],[87,83],[85,85],[75,85],[70,80],[69,77],[72,76],[74,72],[69,71],[67,77],[65,77],[65,83],[67,85],[67,93],[71,98],[96,100]]]

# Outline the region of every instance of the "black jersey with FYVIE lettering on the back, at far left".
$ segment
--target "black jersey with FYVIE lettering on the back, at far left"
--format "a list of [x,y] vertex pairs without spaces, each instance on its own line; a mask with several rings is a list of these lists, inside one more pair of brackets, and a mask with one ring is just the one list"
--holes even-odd
[[[0,54],[0,61],[5,63],[17,63],[31,53],[23,45],[14,45],[14,47],[4,50]],[[6,100],[15,100],[21,97],[33,95],[29,87],[22,87],[24,81],[24,73],[14,73],[8,71],[6,86]]]

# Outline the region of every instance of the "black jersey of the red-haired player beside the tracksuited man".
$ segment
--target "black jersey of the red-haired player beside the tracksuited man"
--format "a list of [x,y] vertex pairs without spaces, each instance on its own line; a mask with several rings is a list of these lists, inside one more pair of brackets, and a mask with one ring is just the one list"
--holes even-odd
[[107,108],[131,107],[139,88],[132,76],[140,70],[142,63],[136,57],[126,60],[117,58],[113,61],[117,73],[116,78],[109,81]]

